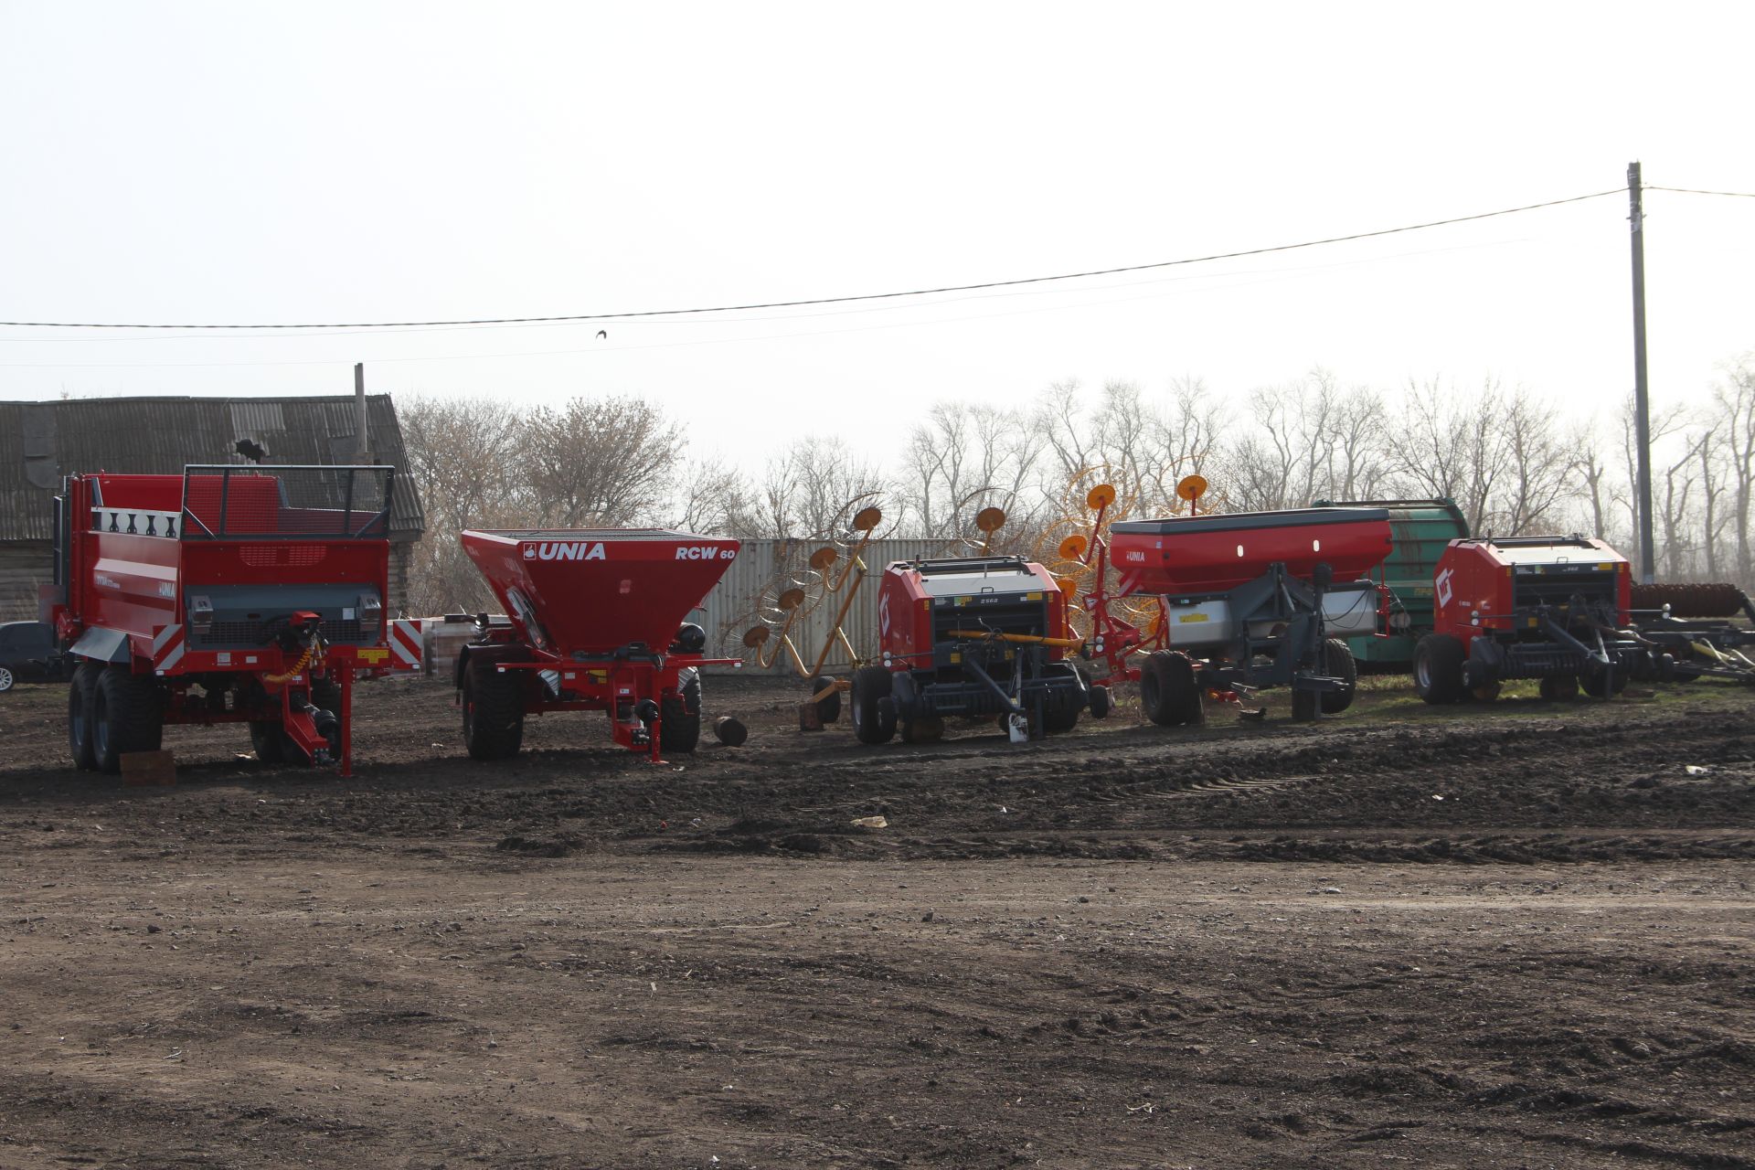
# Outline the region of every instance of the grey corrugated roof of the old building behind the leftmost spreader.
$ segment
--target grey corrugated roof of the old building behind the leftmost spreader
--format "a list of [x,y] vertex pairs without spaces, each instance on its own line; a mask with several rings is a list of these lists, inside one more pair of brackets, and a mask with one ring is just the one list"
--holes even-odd
[[[374,460],[400,472],[407,456],[390,395],[367,395],[365,403]],[[49,479],[44,461],[32,460],[26,472],[26,456],[53,454],[56,484],[77,472],[174,474],[188,463],[242,463],[239,439],[267,447],[265,467],[346,463],[358,430],[353,395],[0,402],[0,540],[51,539],[54,491],[37,486]],[[53,428],[44,426],[44,410],[53,410]],[[33,437],[53,432],[53,453],[25,449],[26,417]],[[390,528],[402,539],[425,528],[411,475],[397,475]]]

